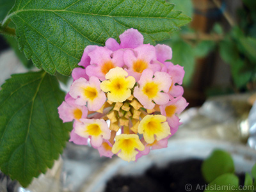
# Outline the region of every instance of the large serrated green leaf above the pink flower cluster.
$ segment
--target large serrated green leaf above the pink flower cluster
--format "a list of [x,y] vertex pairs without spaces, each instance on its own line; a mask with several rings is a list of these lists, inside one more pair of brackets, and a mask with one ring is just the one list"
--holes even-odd
[[67,76],[87,45],[104,45],[129,28],[154,44],[191,20],[164,0],[17,0],[8,18],[36,67]]

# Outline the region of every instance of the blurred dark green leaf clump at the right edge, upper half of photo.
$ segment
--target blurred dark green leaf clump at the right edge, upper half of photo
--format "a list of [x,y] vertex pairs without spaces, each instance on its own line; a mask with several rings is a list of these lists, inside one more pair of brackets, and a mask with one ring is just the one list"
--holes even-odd
[[[243,31],[234,28],[225,40],[220,42],[221,58],[230,64],[232,78],[237,88],[243,88],[256,74],[256,39],[244,36]],[[254,54],[253,54],[254,53]]]

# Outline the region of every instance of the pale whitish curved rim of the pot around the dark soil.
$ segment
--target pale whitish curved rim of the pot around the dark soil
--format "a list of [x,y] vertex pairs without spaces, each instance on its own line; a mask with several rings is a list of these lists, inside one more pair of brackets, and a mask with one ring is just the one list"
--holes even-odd
[[115,175],[141,175],[152,165],[164,167],[170,162],[185,159],[205,159],[216,148],[226,150],[232,155],[236,173],[250,173],[256,162],[255,150],[245,145],[218,140],[171,139],[168,148],[152,150],[150,154],[141,157],[137,162],[127,163],[120,158],[113,159],[99,172],[92,175],[80,191],[101,192],[104,191],[108,180]]

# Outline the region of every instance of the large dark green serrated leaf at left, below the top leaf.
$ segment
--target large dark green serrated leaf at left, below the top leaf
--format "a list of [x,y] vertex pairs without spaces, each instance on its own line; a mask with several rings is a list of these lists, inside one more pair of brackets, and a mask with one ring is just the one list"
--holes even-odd
[[0,168],[24,187],[51,168],[71,124],[58,115],[65,94],[45,72],[13,75],[0,92]]

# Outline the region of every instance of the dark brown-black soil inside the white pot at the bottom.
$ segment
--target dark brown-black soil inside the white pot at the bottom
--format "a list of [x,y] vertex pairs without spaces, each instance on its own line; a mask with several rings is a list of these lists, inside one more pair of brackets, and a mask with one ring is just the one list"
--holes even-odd
[[117,175],[108,181],[105,192],[182,192],[186,191],[187,184],[191,185],[191,191],[204,191],[207,183],[202,177],[201,165],[200,159],[188,159],[164,168],[152,166],[143,175]]

